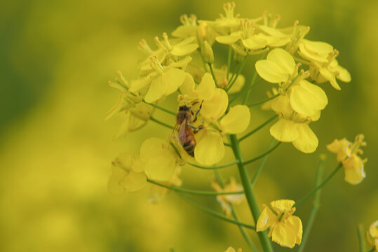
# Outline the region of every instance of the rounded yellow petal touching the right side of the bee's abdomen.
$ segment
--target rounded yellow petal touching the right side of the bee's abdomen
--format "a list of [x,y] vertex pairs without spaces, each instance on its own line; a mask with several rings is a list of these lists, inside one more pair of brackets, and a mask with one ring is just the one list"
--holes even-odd
[[194,148],[194,158],[201,165],[214,165],[224,157],[224,144],[219,132],[208,131]]

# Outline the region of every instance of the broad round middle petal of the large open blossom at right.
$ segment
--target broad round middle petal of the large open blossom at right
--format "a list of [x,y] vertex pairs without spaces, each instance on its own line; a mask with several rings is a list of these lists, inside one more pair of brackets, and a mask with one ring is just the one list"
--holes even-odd
[[325,108],[328,98],[318,86],[302,80],[299,85],[292,87],[290,104],[292,109],[304,116],[311,116]]

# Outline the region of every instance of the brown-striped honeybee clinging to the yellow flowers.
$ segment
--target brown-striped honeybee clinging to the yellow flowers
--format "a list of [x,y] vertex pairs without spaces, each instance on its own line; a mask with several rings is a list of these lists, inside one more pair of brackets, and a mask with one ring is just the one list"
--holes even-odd
[[[195,102],[196,104],[198,102]],[[203,127],[193,127],[189,125],[190,123],[194,123],[197,120],[197,116],[199,111],[201,110],[202,103],[196,111],[194,115],[193,111],[191,111],[191,107],[184,105],[179,107],[179,112],[177,113],[176,117],[176,125],[178,126],[177,129],[177,136],[180,141],[182,148],[186,151],[191,157],[194,157],[194,148],[196,147],[196,139],[194,138],[194,133],[201,130]],[[194,119],[191,120],[191,117],[194,116]],[[193,129],[195,131],[193,131]]]

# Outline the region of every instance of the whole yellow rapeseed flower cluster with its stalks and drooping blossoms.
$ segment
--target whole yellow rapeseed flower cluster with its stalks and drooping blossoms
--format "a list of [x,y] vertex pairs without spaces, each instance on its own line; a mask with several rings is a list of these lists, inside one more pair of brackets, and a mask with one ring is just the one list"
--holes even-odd
[[[280,17],[269,13],[253,19],[242,18],[234,13],[234,8],[235,3],[225,3],[224,14],[215,20],[197,20],[195,15],[182,15],[182,25],[170,36],[163,33],[163,36],[154,38],[155,48],[144,39],[140,41],[138,48],[147,57],[140,61],[140,73],[136,78],[128,81],[117,72],[116,80],[109,82],[121,94],[107,118],[126,113],[119,135],[139,130],[149,121],[168,128],[166,138],[163,138],[166,140],[145,139],[138,153],[123,153],[112,162],[109,191],[119,195],[141,190],[147,183],[152,183],[151,202],[160,201],[170,190],[216,195],[225,216],[214,214],[205,206],[201,208],[238,224],[244,237],[242,226],[261,232],[259,239],[264,251],[271,251],[270,241],[262,232],[267,229],[267,235],[273,241],[293,248],[302,242],[302,221],[293,215],[296,207],[316,193],[330,177],[297,204],[293,200],[276,200],[269,206],[264,205],[259,214],[257,202],[251,196],[252,185],[245,165],[266,157],[276,147],[245,161],[239,142],[275,120],[269,130],[274,139],[292,143],[302,153],[313,153],[318,147],[318,137],[309,125],[320,119],[321,112],[328,105],[327,94],[319,84],[329,82],[336,90],[341,90],[337,81],[348,83],[351,76],[337,62],[339,52],[332,45],[305,38],[309,27],[299,25],[298,21],[291,27],[278,27]],[[214,47],[216,43],[220,46]],[[222,62],[217,50],[213,50],[221,47],[229,50],[227,62]],[[259,59],[254,64],[247,64],[248,59],[255,58],[251,55],[258,55]],[[248,75],[243,76],[243,70],[252,72],[252,81],[248,85],[245,81]],[[255,105],[262,104],[262,109],[273,111],[275,116],[239,137],[248,129],[250,121],[255,120],[250,114],[250,107],[255,105],[248,103],[252,87],[257,83],[266,85],[269,97]],[[161,105],[167,97],[174,97],[171,99],[176,101],[174,109]],[[158,120],[154,117],[156,110],[174,117]],[[366,160],[359,156],[362,146],[365,146],[362,135],[356,137],[354,143],[342,139],[327,146],[329,151],[337,154],[337,161],[344,167],[345,180],[352,184],[365,178]],[[232,149],[236,160],[217,165],[224,160],[227,148]],[[185,164],[202,169],[238,165],[241,184],[231,178],[229,184],[223,186],[221,175],[216,171],[217,182],[210,185],[215,192],[180,188],[182,181],[178,176]],[[237,220],[232,209],[232,204],[242,202],[245,197],[253,218],[257,220],[256,228],[241,225],[243,223]],[[197,202],[194,204],[198,206]],[[231,214],[235,220],[228,218]],[[370,230],[373,230],[371,237],[377,243],[377,233],[374,228]],[[227,251],[235,250],[229,247]]]

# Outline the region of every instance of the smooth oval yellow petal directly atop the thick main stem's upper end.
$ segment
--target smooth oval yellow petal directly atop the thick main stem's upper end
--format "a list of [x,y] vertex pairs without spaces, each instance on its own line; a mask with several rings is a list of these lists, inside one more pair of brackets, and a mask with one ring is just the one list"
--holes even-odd
[[247,129],[250,124],[250,110],[248,106],[233,106],[222,120],[220,126],[224,132],[229,134],[238,134]]

